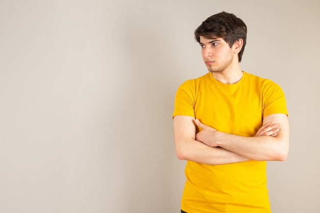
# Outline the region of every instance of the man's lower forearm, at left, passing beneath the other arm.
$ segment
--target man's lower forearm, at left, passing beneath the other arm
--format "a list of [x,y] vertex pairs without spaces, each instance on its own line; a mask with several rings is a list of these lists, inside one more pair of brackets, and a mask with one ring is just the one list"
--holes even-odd
[[210,147],[196,140],[176,141],[176,154],[179,159],[201,164],[222,165],[248,161],[248,158],[221,147]]

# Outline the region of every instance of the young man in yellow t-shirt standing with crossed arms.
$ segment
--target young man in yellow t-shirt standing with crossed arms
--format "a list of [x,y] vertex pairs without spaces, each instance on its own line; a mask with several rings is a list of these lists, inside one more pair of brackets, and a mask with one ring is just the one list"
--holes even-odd
[[246,31],[226,12],[195,31],[209,73],[175,97],[176,154],[187,160],[181,212],[270,212],[266,161],[287,158],[289,124],[282,89],[240,69]]

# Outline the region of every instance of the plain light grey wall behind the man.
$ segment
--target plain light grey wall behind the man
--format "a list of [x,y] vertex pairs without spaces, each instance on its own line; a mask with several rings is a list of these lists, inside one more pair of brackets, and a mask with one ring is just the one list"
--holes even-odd
[[248,26],[241,68],[286,94],[271,208],[318,212],[319,1],[0,1],[0,211],[179,212],[174,94],[207,73],[193,31]]

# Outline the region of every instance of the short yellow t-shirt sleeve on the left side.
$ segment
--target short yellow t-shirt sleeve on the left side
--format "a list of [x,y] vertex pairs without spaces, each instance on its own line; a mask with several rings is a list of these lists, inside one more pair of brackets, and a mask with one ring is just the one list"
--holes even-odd
[[189,80],[181,84],[176,92],[174,100],[174,111],[176,115],[187,115],[195,117],[195,86],[194,81]]

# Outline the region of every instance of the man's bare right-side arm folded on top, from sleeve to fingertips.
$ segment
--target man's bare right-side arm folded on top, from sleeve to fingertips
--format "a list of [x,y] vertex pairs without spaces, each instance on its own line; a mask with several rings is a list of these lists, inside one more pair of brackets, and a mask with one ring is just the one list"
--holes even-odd
[[273,114],[266,116],[263,123],[277,123],[280,131],[277,134],[260,137],[243,137],[216,131],[196,121],[202,128],[196,140],[212,147],[222,147],[257,161],[285,161],[289,150],[289,123],[287,115]]

